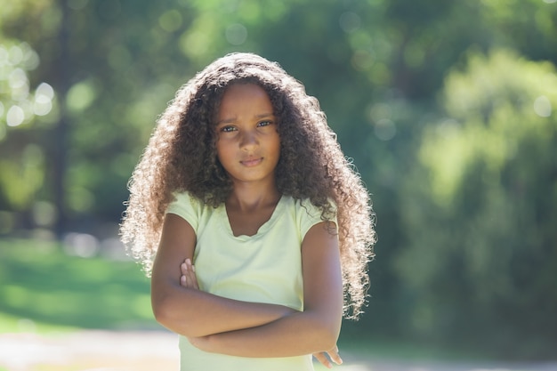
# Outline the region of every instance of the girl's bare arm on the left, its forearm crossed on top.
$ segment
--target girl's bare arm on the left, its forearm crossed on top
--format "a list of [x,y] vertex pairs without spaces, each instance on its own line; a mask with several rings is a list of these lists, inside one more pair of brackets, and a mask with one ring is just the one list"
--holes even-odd
[[190,223],[167,214],[151,278],[157,321],[185,336],[205,336],[267,324],[294,312],[285,306],[240,302],[181,286],[181,264],[192,259],[196,236]]

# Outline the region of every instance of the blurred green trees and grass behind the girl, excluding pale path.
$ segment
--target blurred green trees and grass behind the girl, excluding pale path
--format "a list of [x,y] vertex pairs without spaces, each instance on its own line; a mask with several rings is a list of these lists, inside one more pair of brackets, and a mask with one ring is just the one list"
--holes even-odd
[[0,0],[0,333],[161,329],[126,182],[237,51],[304,83],[372,194],[345,348],[557,358],[556,0]]

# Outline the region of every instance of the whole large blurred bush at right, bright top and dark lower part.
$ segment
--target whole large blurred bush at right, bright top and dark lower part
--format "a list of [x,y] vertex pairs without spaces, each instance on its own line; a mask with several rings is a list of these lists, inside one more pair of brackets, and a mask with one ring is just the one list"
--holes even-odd
[[[557,75],[513,52],[468,60],[447,77],[448,117],[424,132],[405,193],[406,205],[418,204],[395,260],[412,296],[408,326],[465,340],[490,324],[482,341],[505,356],[547,357],[547,316],[557,311],[547,279],[557,269]],[[506,340],[518,337],[520,347]]]

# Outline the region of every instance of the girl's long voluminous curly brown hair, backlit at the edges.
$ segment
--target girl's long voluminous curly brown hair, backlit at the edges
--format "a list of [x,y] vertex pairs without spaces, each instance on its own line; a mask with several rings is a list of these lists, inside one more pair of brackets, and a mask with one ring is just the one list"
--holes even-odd
[[375,214],[369,195],[359,173],[344,157],[319,101],[307,95],[304,86],[278,63],[252,53],[232,53],[215,60],[178,90],[158,118],[128,184],[122,241],[149,274],[165,210],[175,191],[188,191],[214,207],[228,198],[232,182],[216,156],[214,126],[223,93],[238,83],[261,86],[278,118],[278,191],[309,199],[319,207],[324,221],[336,217],[344,316],[357,319],[366,302],[367,262],[374,257]]

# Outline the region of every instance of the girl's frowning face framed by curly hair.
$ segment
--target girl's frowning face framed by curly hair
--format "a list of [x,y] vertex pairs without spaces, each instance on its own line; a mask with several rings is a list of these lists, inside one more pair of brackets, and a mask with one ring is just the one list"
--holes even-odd
[[217,115],[216,152],[235,184],[274,183],[280,156],[277,132],[269,96],[259,85],[230,85],[222,96]]

